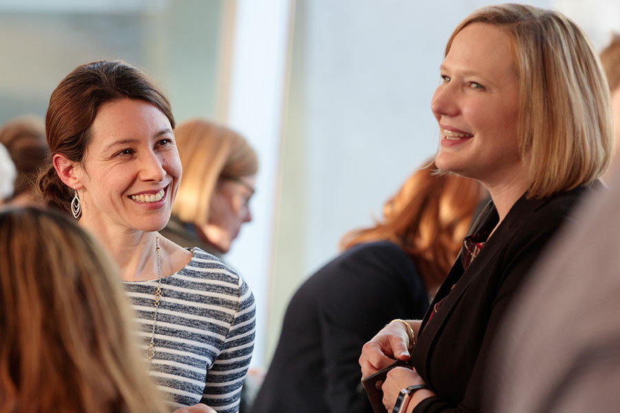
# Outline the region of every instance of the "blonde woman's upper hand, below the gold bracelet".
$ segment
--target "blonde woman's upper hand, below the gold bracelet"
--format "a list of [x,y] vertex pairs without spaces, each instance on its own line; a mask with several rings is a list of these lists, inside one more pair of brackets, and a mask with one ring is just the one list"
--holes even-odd
[[[414,331],[420,329],[420,321],[410,321]],[[378,372],[394,362],[394,359],[409,360],[409,335],[405,326],[400,322],[392,322],[382,328],[368,343],[362,347],[360,366],[362,377]]]

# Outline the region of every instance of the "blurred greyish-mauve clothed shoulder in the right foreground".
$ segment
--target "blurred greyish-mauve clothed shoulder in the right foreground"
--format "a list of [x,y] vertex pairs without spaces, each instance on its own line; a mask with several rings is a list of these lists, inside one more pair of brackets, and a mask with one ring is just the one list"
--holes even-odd
[[619,229],[616,169],[510,306],[488,363],[486,412],[618,412]]

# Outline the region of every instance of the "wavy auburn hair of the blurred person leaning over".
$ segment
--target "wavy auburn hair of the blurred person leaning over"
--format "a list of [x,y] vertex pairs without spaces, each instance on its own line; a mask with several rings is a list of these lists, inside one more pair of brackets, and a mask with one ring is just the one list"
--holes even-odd
[[[428,165],[428,162],[426,162]],[[408,253],[426,289],[441,284],[467,235],[473,213],[482,200],[482,185],[453,173],[433,173],[435,162],[419,169],[383,207],[375,226],[351,231],[340,247],[388,240]]]

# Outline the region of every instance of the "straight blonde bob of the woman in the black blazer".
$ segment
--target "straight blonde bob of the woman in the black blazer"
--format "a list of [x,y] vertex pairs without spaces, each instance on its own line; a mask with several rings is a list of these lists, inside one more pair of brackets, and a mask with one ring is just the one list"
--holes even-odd
[[529,169],[528,198],[568,191],[596,180],[613,152],[608,84],[582,30],[555,10],[501,4],[476,10],[446,45],[473,23],[510,36],[519,78],[519,149]]

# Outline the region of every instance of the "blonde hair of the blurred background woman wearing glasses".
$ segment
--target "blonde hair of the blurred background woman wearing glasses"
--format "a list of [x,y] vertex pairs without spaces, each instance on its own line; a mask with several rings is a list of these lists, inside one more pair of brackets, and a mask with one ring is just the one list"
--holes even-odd
[[204,119],[186,120],[174,130],[183,179],[172,214],[183,222],[205,225],[211,197],[223,179],[258,172],[256,152],[236,131]]

